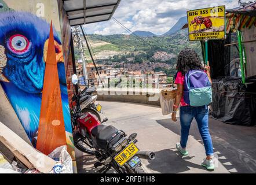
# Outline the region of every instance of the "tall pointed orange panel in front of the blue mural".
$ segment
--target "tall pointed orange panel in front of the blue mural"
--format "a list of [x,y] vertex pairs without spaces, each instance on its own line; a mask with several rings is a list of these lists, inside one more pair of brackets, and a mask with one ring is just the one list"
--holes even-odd
[[36,149],[47,155],[63,145],[66,145],[66,136],[51,23]]

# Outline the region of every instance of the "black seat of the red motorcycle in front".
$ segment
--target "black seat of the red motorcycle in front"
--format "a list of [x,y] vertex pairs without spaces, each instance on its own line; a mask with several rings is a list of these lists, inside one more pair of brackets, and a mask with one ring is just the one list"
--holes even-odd
[[118,133],[118,131],[119,130],[112,125],[98,125],[92,129],[92,136],[95,140],[94,143],[101,149],[111,149],[123,136],[122,132]]

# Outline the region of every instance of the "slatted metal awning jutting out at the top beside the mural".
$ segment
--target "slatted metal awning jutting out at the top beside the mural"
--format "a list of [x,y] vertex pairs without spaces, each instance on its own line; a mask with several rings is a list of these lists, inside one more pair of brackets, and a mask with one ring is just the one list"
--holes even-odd
[[97,23],[109,20],[121,0],[64,0],[70,25]]

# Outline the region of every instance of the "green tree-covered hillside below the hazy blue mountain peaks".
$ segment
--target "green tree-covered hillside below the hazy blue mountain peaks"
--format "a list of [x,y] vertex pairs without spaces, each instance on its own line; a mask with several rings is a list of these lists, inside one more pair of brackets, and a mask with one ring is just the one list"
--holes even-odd
[[[189,42],[188,30],[182,29],[167,36],[138,37],[135,35],[88,35],[97,62],[164,62],[174,66],[177,56],[185,47],[191,47],[202,58],[199,41]],[[85,55],[89,60],[89,52]],[[160,54],[160,56],[159,56]],[[76,58],[79,58],[76,49]]]

